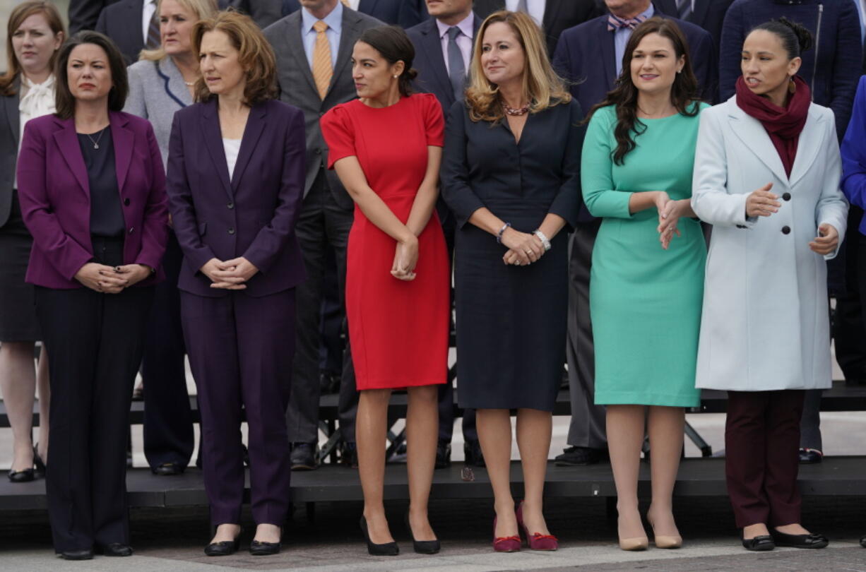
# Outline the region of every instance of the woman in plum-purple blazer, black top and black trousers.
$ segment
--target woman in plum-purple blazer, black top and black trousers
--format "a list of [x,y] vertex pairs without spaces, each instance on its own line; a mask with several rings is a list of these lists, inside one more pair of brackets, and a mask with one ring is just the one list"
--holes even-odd
[[48,516],[64,558],[130,556],[129,405],[165,251],[165,172],[151,125],[120,112],[126,67],[111,40],[75,35],[55,69],[57,111],[24,127],[17,167],[26,280],[56,349]]

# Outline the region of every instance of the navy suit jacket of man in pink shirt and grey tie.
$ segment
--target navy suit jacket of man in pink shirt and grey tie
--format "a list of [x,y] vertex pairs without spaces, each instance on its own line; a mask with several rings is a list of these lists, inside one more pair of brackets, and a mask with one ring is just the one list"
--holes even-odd
[[[475,16],[472,28],[477,33],[480,27],[481,18]],[[418,72],[412,87],[418,92],[436,95],[447,117],[449,109],[456,100],[448,77],[448,68],[445,67],[445,58],[442,55],[442,41],[439,37],[439,28],[436,26],[436,18],[430,18],[407,29],[406,34],[415,46],[415,61],[412,62],[412,67]]]

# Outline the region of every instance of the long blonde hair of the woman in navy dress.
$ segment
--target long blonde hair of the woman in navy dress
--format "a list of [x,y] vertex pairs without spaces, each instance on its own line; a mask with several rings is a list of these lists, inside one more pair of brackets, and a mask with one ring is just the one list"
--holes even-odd
[[469,119],[473,121],[499,121],[505,117],[499,100],[499,87],[484,75],[481,66],[481,43],[491,24],[506,23],[523,48],[526,64],[523,70],[523,96],[529,101],[529,112],[537,113],[548,107],[572,100],[565,88],[565,81],[553,71],[547,57],[544,36],[538,24],[523,12],[500,10],[481,23],[475,35],[475,50],[469,65],[469,87],[466,89],[466,105]]

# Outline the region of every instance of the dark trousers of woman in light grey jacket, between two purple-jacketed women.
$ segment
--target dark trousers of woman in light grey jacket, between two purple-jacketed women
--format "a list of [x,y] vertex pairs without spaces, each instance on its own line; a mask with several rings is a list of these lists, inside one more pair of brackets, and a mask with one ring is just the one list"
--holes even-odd
[[178,239],[170,232],[162,262],[165,280],[154,292],[141,362],[145,380],[145,458],[152,468],[164,463],[185,467],[195,447],[178,291],[183,262]]

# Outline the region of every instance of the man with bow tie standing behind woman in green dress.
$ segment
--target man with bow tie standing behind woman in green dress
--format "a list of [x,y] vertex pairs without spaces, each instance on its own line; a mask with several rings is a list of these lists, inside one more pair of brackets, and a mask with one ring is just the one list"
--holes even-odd
[[[622,52],[631,34],[631,25],[651,16],[664,14],[650,0],[605,0],[610,14],[620,22],[609,23],[608,16],[598,16],[559,37],[553,55],[553,67],[566,79],[572,80],[572,95],[584,113],[604,100],[613,88],[622,66]],[[632,20],[637,19],[637,20]],[[674,19],[674,18],[671,18]],[[701,93],[713,99],[716,82],[716,59],[713,39],[709,33],[688,22],[676,20],[688,40],[692,68]],[[618,35],[618,37],[617,37]],[[601,57],[598,57],[598,55]],[[594,219],[581,204],[578,226],[571,238],[568,296],[568,385],[572,401],[572,421],[565,453],[556,460],[560,465],[588,465],[604,456],[607,437],[604,430],[604,408],[594,404],[595,360],[590,322],[589,286],[592,247],[601,221]]]

